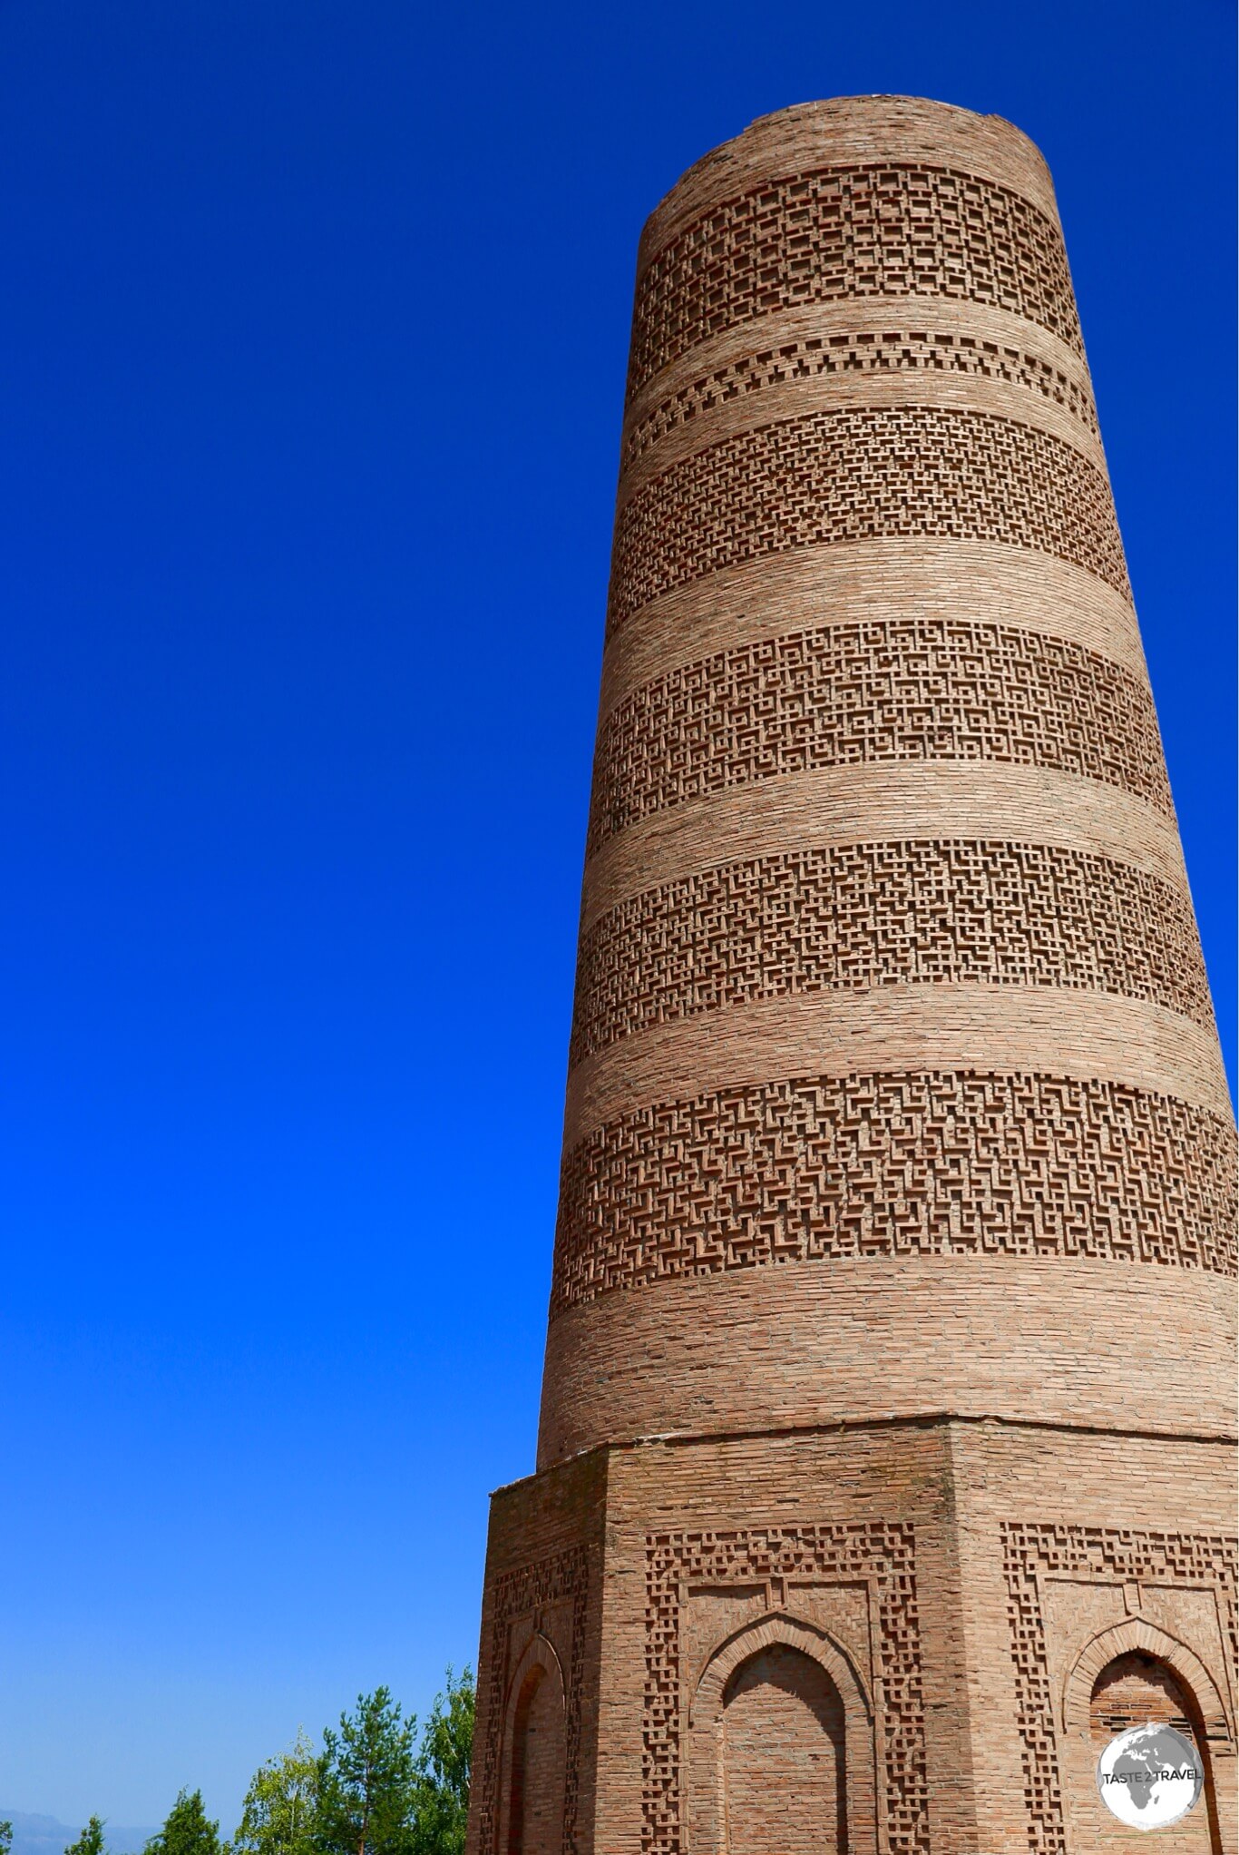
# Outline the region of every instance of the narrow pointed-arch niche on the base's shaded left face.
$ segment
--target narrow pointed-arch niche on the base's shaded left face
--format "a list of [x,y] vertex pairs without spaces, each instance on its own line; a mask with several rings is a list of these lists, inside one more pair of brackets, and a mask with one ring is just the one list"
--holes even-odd
[[566,1766],[564,1670],[549,1638],[536,1631],[516,1664],[505,1705],[501,1855],[560,1855]]

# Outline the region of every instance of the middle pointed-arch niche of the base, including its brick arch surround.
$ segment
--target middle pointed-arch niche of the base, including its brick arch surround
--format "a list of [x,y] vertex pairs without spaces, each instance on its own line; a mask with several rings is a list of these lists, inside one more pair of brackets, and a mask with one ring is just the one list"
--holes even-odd
[[786,1612],[723,1638],[688,1707],[692,1855],[872,1855],[874,1708],[848,1653]]

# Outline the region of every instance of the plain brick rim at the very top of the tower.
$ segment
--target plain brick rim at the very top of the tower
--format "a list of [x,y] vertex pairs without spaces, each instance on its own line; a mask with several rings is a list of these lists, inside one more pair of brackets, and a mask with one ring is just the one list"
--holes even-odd
[[824,96],[755,117],[688,167],[645,221],[638,269],[701,210],[811,167],[916,161],[959,167],[1022,193],[1057,221],[1037,143],[1000,115],[931,96]]

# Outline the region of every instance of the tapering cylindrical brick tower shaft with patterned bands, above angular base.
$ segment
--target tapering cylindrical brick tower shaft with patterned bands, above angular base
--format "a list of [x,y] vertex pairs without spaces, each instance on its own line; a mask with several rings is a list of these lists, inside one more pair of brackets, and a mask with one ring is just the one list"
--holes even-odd
[[540,1462],[1217,1415],[1230,1139],[1044,161],[755,122],[640,247]]

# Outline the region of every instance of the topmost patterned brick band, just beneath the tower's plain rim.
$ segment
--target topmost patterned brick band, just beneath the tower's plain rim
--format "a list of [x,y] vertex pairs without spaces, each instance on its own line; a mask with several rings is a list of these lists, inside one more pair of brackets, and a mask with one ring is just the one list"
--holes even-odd
[[671,239],[636,286],[629,397],[697,341],[772,310],[909,295],[1011,310],[1083,352],[1052,219],[974,174],[874,161],[768,180]]

